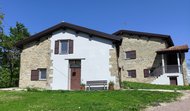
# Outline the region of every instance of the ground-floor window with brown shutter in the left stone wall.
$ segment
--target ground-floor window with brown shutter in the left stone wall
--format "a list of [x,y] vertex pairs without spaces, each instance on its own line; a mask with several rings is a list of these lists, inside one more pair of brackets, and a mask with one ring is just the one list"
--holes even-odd
[[46,69],[38,69],[31,71],[31,81],[46,80]]

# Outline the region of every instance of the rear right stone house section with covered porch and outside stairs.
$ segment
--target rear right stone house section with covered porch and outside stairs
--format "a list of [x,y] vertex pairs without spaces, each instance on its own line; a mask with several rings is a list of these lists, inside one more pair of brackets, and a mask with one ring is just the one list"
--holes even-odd
[[163,85],[187,85],[185,52],[188,46],[174,46],[169,35],[120,30],[121,81]]

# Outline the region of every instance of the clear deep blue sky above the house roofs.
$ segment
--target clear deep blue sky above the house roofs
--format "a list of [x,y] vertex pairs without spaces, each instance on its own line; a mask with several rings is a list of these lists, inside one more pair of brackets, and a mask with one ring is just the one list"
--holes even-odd
[[190,0],[0,0],[0,11],[6,33],[16,21],[31,34],[66,21],[110,34],[119,29],[168,34],[175,45],[190,46]]

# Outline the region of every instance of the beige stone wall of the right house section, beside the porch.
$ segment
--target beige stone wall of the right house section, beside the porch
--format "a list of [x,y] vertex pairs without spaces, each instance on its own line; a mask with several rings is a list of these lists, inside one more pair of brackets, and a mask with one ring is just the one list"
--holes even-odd
[[[162,39],[122,35],[120,46],[119,67],[121,67],[121,81],[134,81],[150,83],[155,78],[144,78],[144,69],[161,66],[161,55],[157,50],[167,47]],[[126,51],[136,50],[136,59],[126,60]],[[127,70],[136,70],[136,78],[128,77]]]

